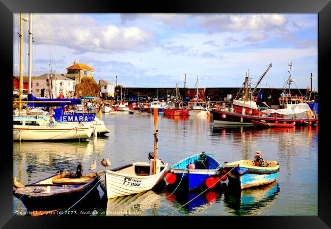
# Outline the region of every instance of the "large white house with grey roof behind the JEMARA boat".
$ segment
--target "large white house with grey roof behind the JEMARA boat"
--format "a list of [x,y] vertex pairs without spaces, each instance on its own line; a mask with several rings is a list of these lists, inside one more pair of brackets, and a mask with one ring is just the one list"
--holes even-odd
[[52,81],[50,81],[50,74],[34,76],[32,77],[32,85],[32,94],[35,97],[49,98],[49,90],[51,90],[53,98],[57,98],[60,93],[65,98],[72,98],[75,92],[75,80],[60,74],[52,74]]

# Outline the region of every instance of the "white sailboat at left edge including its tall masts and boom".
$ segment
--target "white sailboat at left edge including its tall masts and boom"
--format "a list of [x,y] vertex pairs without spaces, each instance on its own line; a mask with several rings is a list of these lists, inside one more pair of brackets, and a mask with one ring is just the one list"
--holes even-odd
[[[13,140],[63,140],[63,139],[84,139],[91,137],[93,131],[92,122],[75,122],[75,123],[62,123],[57,122],[51,115],[48,116],[31,116],[26,115],[26,112],[22,111],[22,103],[28,103],[31,101],[22,101],[22,50],[23,50],[23,14],[20,13],[20,62],[19,62],[19,101],[18,112],[13,115]],[[30,14],[30,22],[32,21],[32,14]],[[30,23],[32,26],[32,23]],[[29,30],[29,40],[32,41],[32,29]],[[30,55],[29,55],[29,93],[31,92],[31,66],[32,66],[32,52],[30,44]],[[32,94],[28,95],[28,99],[32,98]],[[72,100],[64,99],[62,100],[66,105],[72,103]],[[33,101],[34,103],[45,103],[45,101]],[[52,103],[52,106],[56,106],[59,101],[48,101]],[[80,101],[81,103],[81,101]]]

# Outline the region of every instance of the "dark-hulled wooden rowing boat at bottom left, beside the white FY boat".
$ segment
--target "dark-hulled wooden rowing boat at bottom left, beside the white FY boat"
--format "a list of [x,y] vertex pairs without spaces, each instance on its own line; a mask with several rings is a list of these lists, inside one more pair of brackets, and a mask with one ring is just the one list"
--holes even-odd
[[[16,188],[13,195],[20,198],[28,211],[46,212],[54,209],[68,209],[89,192],[97,182],[96,173],[75,178],[74,173],[59,171],[55,175],[23,188]],[[37,192],[39,188],[47,186],[50,187],[49,192]]]

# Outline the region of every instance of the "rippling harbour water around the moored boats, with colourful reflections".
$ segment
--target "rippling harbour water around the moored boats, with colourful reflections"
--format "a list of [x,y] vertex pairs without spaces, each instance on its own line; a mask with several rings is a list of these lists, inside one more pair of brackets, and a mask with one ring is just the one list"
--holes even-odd
[[[110,133],[80,142],[13,142],[13,176],[23,184],[32,183],[58,170],[75,171],[78,163],[89,173],[93,160],[97,169],[102,158],[117,167],[148,161],[153,151],[154,120],[142,115],[103,114]],[[91,216],[317,216],[318,215],[318,126],[282,129],[219,126],[212,117],[168,117],[159,115],[158,154],[169,166],[193,154],[213,154],[223,164],[253,159],[261,151],[264,160],[280,164],[277,182],[269,186],[234,191],[227,188],[187,193],[168,190],[165,182],[157,188],[107,201],[98,186],[90,206],[73,214]],[[168,198],[165,198],[169,196]],[[99,198],[100,197],[100,198]],[[189,202],[190,201],[190,202]],[[179,208],[186,204],[183,208]],[[26,211],[13,196],[13,214]]]

